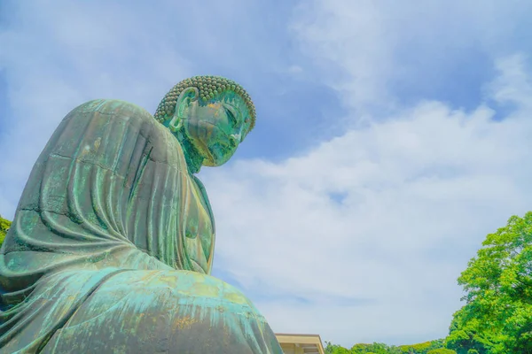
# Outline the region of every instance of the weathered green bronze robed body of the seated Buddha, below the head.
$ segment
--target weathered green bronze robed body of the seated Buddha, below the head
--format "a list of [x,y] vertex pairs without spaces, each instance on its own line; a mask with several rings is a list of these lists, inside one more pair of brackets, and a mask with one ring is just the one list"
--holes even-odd
[[214,220],[176,137],[91,101],[37,159],[0,250],[2,353],[282,353],[210,275]]

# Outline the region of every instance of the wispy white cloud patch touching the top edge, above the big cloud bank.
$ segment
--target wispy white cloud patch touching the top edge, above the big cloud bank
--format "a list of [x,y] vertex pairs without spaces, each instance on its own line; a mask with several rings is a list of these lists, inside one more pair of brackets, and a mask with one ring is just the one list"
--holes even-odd
[[[347,90],[355,103],[386,99],[383,79],[392,69],[392,48],[383,13],[374,2],[301,2],[295,13],[293,33],[303,50],[330,66],[334,75],[329,84]],[[352,75],[348,80],[340,79],[344,71]]]

